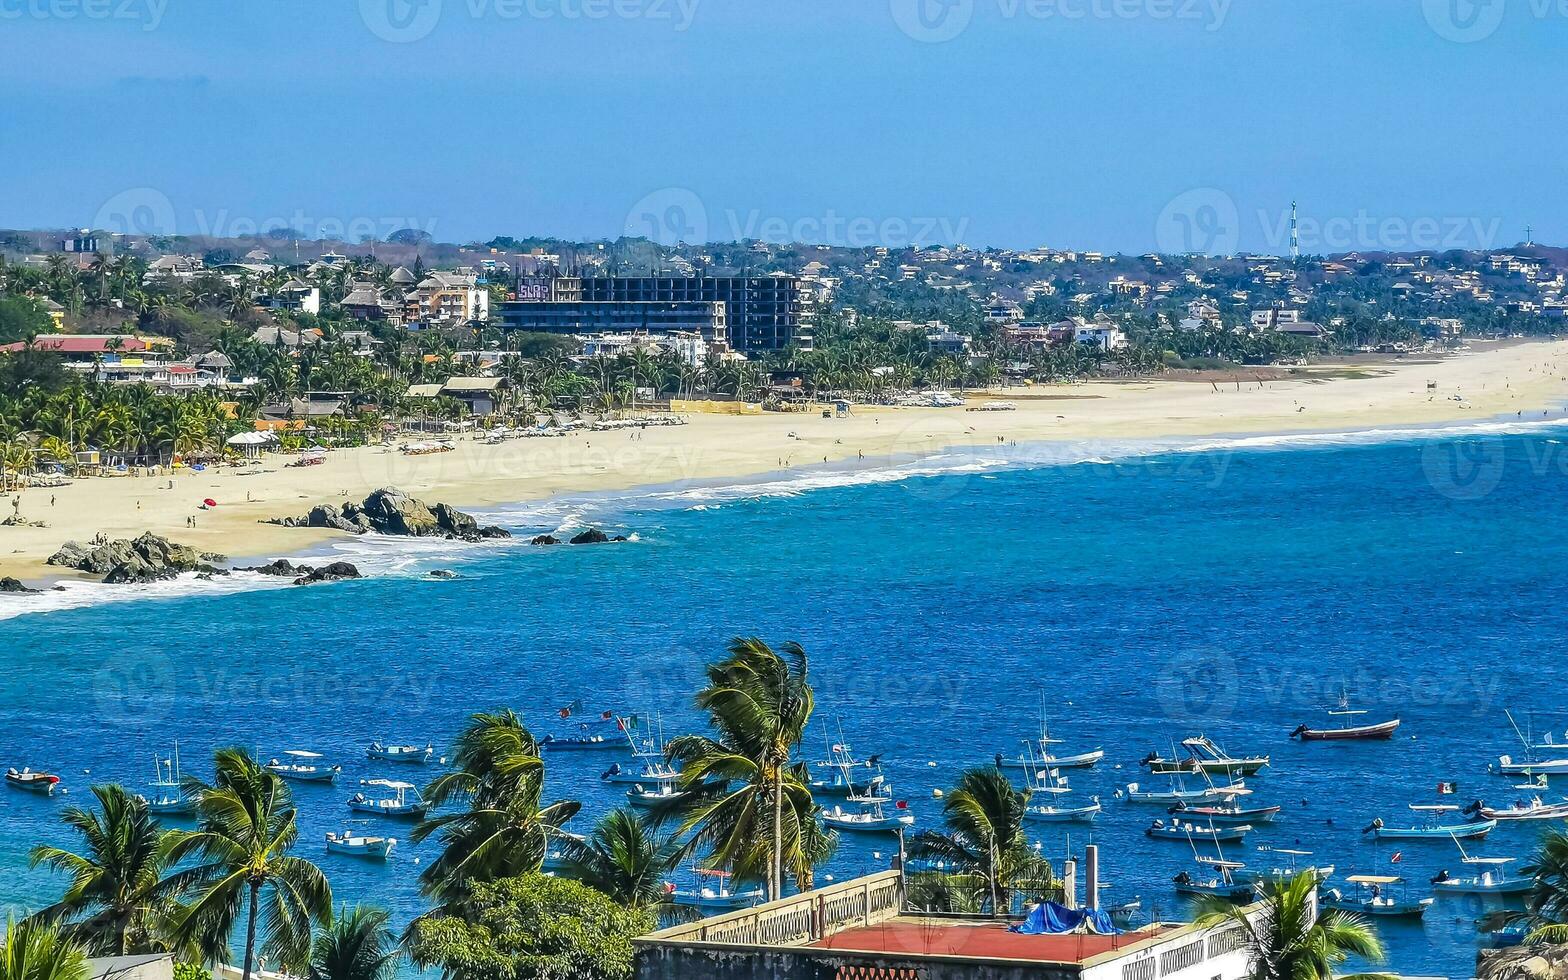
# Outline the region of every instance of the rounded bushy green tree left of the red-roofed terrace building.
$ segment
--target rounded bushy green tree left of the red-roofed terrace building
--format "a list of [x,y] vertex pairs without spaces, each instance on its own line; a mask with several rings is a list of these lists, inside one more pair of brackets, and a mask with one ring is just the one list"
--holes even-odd
[[629,980],[632,939],[655,925],[648,909],[541,873],[477,883],[453,913],[416,922],[408,942],[447,980]]

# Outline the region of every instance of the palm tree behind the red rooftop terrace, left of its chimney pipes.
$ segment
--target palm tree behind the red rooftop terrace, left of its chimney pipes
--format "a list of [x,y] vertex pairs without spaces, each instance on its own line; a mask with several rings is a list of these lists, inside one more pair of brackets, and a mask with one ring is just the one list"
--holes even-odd
[[994,765],[967,770],[942,800],[947,829],[920,833],[911,850],[955,867],[978,886],[991,914],[1007,914],[1018,889],[1040,892],[1052,884],[1051,864],[1030,850],[1024,834],[1029,797]]

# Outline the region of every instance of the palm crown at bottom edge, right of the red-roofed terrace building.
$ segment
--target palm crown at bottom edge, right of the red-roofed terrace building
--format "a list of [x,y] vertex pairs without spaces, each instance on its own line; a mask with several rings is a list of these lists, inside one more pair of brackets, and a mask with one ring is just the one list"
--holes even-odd
[[[1317,877],[1311,872],[1262,886],[1262,914],[1215,895],[1198,905],[1198,925],[1240,930],[1253,980],[1330,980],[1350,956],[1383,960],[1383,944],[1361,916],[1330,909],[1312,919]],[[1388,980],[1388,974],[1356,974],[1342,980]]]

